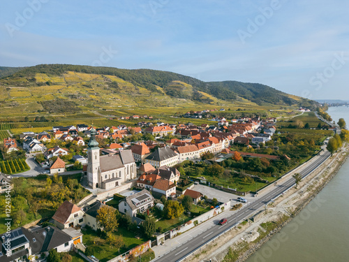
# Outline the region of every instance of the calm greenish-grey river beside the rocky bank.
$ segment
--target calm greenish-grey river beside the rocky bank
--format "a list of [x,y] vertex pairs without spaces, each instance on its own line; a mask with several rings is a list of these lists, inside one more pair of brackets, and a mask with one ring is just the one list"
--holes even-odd
[[[349,125],[349,108],[327,111]],[[247,262],[349,261],[349,159],[339,173],[295,219],[253,254]]]

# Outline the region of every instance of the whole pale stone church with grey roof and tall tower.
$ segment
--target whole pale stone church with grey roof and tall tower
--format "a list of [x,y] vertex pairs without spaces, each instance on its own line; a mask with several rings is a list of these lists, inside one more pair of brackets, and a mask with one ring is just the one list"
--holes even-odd
[[91,129],[87,159],[87,179],[92,189],[109,190],[137,178],[135,159],[131,150],[123,150],[119,154],[99,155],[95,129]]

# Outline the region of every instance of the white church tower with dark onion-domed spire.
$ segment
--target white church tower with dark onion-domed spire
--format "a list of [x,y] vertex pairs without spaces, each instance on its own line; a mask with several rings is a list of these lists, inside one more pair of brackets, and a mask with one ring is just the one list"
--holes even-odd
[[98,170],[99,170],[99,147],[96,141],[96,129],[91,129],[91,139],[87,147],[87,180],[89,182],[89,187],[96,189],[96,187],[101,187],[98,184]]

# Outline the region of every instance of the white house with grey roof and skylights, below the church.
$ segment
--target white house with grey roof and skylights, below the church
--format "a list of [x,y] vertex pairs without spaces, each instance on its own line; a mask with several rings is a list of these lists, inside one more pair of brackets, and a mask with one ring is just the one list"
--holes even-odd
[[154,197],[146,189],[135,193],[131,196],[126,196],[119,202],[119,212],[128,214],[130,217],[135,217],[137,213],[146,212],[154,206]]

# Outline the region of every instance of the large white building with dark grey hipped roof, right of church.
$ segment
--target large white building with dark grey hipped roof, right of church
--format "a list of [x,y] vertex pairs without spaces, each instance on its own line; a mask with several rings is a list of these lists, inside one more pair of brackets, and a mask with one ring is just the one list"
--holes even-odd
[[170,147],[158,148],[144,158],[144,163],[150,163],[155,168],[174,166],[178,163],[178,153],[171,150]]

